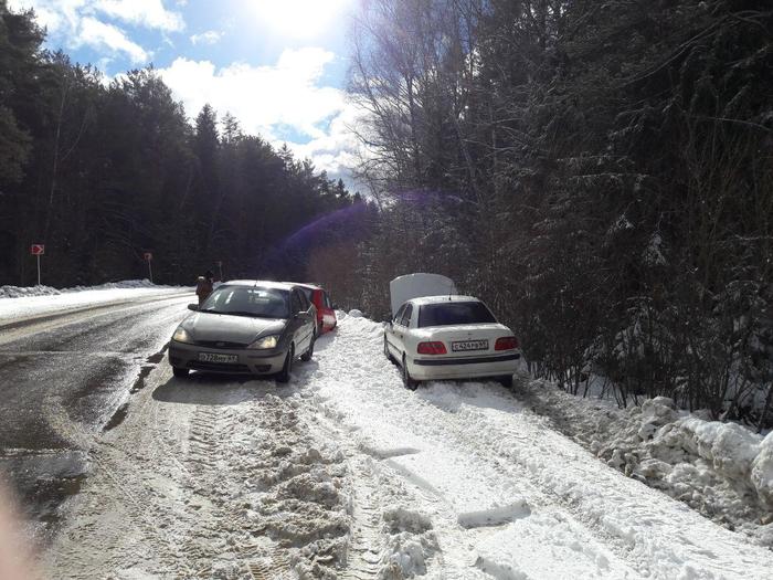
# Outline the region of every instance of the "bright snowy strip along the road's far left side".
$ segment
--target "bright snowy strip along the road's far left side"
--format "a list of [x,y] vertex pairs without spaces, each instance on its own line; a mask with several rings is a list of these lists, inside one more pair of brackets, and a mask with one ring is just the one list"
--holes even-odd
[[61,291],[49,286],[0,286],[0,326],[15,319],[180,292],[192,294],[192,288],[158,286],[147,280],[112,282],[99,286],[77,286]]

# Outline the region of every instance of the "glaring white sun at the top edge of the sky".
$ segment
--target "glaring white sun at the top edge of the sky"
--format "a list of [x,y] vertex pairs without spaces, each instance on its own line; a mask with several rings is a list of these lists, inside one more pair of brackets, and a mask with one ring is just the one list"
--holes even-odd
[[252,0],[261,23],[282,36],[307,39],[336,25],[353,0]]

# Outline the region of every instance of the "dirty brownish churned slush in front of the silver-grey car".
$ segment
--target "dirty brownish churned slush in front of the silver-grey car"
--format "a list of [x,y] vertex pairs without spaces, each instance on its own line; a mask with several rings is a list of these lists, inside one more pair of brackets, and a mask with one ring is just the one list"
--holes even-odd
[[[168,368],[153,373],[163,381]],[[309,397],[268,382],[166,379],[92,447],[94,473],[45,568],[71,578],[337,577],[351,526],[347,457],[314,436]]]

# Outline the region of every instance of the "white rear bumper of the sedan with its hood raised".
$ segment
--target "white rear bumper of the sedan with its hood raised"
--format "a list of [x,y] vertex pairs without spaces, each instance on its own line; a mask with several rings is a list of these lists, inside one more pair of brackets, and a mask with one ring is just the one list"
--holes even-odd
[[488,357],[409,359],[407,370],[412,378],[420,381],[501,377],[515,373],[519,359],[519,352]]

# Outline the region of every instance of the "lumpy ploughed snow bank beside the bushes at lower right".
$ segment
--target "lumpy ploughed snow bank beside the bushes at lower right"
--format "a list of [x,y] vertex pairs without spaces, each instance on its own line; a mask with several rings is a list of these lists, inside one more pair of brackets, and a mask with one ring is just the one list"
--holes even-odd
[[679,412],[665,397],[618,410],[543,381],[521,392],[611,467],[773,547],[773,434]]

